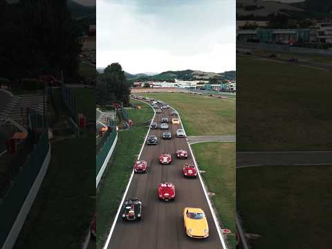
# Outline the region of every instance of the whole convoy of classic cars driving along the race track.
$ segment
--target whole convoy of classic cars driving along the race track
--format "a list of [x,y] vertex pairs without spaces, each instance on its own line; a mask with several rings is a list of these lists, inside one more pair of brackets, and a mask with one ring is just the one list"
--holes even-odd
[[[163,113],[162,110],[169,109],[169,105],[162,101],[148,99],[152,101],[153,107],[156,109],[156,113]],[[152,105],[151,104],[151,105]],[[159,109],[158,104],[162,104]],[[178,116],[176,111],[172,111],[172,116]],[[160,129],[169,129],[169,118],[163,117],[160,119]],[[180,124],[179,118],[172,118],[172,124]],[[151,122],[151,129],[157,129],[158,124]],[[163,132],[163,139],[171,139],[172,133],[169,131]],[[176,129],[176,137],[185,138],[185,131],[183,129]],[[151,135],[147,137],[147,145],[158,145],[158,137]],[[178,149],[175,151],[177,159],[187,159],[188,152],[185,149]],[[172,163],[172,154],[163,153],[158,156],[158,160],[162,165],[170,165]],[[137,160],[133,166],[135,173],[147,172],[147,161]],[[185,163],[182,168],[183,176],[186,178],[195,178],[198,174],[197,169],[192,163]],[[174,201],[175,199],[175,185],[169,182],[163,182],[158,185],[157,188],[158,199],[162,201]],[[124,221],[140,221],[142,219],[142,200],[138,198],[131,198],[124,201],[122,206],[122,219]],[[183,222],[185,227],[185,234],[195,239],[203,239],[209,236],[208,221],[205,213],[201,208],[185,208],[183,210]]]

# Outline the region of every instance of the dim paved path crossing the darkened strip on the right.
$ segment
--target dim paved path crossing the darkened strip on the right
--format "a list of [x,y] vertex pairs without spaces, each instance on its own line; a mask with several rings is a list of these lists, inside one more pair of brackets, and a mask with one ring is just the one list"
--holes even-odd
[[332,151],[237,152],[237,168],[264,165],[332,165]]

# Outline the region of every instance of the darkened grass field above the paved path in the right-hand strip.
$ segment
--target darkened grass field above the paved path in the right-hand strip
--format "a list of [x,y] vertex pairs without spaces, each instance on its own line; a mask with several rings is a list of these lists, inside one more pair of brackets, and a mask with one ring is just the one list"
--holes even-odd
[[331,149],[331,72],[250,56],[237,67],[239,151]]

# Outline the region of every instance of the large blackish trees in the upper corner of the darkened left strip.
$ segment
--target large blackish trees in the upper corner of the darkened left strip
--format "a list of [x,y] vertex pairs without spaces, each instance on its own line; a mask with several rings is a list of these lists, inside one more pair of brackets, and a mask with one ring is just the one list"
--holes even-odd
[[66,0],[0,0],[0,77],[76,77],[80,44]]

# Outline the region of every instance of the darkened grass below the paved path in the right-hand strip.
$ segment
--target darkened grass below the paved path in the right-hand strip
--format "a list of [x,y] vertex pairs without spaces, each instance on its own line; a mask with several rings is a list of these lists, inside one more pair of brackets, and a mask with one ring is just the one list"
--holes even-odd
[[[331,166],[237,169],[237,208],[255,249],[330,248]],[[259,179],[259,181],[257,181]]]

